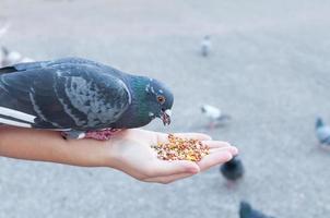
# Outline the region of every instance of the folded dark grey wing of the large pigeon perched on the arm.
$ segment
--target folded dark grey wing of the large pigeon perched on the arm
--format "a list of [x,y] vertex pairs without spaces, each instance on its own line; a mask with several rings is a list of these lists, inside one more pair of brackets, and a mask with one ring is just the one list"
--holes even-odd
[[34,128],[108,128],[130,104],[126,84],[96,65],[35,62],[10,68],[0,75],[0,109],[4,108],[0,116],[5,116],[7,109],[33,116],[32,123],[20,116],[12,117]]

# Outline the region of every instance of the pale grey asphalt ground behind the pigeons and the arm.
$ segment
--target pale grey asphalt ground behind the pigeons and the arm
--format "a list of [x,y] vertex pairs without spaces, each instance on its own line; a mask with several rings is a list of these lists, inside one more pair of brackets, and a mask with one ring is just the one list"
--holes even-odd
[[[238,146],[247,169],[228,189],[213,168],[169,185],[111,169],[0,158],[0,217],[237,218],[238,203],[281,218],[330,216],[330,153],[316,116],[330,123],[330,2],[0,0],[11,27],[0,43],[36,60],[79,56],[166,82],[174,122],[198,131],[201,104],[232,122],[209,132]],[[199,56],[210,34],[209,58]]]

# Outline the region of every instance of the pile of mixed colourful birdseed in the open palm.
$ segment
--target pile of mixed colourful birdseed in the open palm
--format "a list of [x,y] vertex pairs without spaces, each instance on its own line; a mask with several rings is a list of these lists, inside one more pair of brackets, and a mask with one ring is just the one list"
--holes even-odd
[[208,146],[199,140],[186,140],[168,134],[168,143],[158,143],[153,145],[157,157],[162,160],[191,160],[200,161],[210,154]]

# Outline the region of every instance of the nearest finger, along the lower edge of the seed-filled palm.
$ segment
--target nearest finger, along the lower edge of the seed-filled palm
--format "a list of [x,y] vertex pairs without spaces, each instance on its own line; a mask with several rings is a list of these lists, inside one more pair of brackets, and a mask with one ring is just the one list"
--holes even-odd
[[156,160],[150,165],[150,168],[146,170],[146,177],[168,177],[172,174],[179,173],[198,173],[200,171],[199,166],[196,162],[189,160]]

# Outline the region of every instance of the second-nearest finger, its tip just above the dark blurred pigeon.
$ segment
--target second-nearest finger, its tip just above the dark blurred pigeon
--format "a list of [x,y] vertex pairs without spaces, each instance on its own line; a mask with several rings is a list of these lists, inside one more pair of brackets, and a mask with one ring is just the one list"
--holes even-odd
[[201,171],[205,171],[213,166],[229,161],[232,158],[233,158],[233,155],[228,150],[211,153],[210,155],[207,155],[205,157],[203,157],[203,159],[201,159],[198,162],[198,166],[200,167]]

